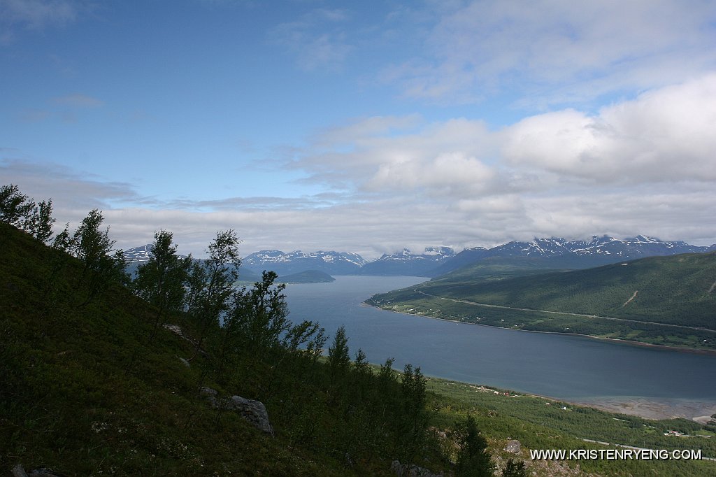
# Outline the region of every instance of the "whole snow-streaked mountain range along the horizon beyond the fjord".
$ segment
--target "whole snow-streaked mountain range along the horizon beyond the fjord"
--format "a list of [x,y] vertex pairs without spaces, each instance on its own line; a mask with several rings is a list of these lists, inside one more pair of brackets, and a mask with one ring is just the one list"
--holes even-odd
[[[705,253],[716,250],[712,246],[694,246],[684,241],[662,241],[639,235],[633,238],[593,236],[589,240],[564,238],[535,238],[533,241],[511,241],[491,249],[475,247],[456,254],[450,247],[428,247],[422,253],[403,249],[395,254],[383,254],[367,261],[359,254],[337,251],[262,250],[242,260],[242,275],[246,279],[260,276],[263,270],[273,270],[279,276],[304,271],[321,271],[330,275],[405,275],[437,277],[449,273],[473,273],[475,266],[518,267],[519,269],[586,269],[614,264],[618,261],[647,256],[668,256]],[[150,258],[151,245],[125,251],[128,264],[140,264]],[[136,265],[135,265],[136,266]]]

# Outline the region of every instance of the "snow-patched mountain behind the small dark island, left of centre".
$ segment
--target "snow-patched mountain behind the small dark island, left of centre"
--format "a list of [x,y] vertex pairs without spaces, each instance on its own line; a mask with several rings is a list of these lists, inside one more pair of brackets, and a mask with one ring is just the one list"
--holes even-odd
[[347,252],[306,253],[296,250],[284,253],[280,250],[262,250],[246,256],[242,264],[253,271],[272,270],[279,276],[306,270],[324,271],[331,275],[352,275],[356,274],[366,261],[359,254]]

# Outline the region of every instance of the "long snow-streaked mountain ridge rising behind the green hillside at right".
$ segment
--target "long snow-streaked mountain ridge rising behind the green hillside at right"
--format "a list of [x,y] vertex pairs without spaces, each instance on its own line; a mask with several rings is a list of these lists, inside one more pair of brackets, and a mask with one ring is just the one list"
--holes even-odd
[[432,270],[431,276],[439,276],[491,258],[522,257],[537,259],[546,268],[584,269],[646,256],[704,253],[712,250],[716,250],[715,245],[695,246],[683,241],[662,241],[643,235],[632,238],[593,236],[591,240],[535,238],[530,242],[508,242],[492,249],[465,249]]

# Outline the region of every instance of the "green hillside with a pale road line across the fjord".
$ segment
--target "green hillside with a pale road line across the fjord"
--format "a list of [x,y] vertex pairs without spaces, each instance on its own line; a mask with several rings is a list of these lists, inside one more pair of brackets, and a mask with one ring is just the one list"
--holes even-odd
[[530,276],[504,276],[529,269],[481,270],[379,294],[369,303],[500,327],[716,350],[715,253]]

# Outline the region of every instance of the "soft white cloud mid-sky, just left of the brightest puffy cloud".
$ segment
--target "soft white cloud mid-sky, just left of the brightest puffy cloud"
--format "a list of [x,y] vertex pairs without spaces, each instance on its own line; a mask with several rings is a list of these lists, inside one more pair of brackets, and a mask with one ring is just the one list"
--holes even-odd
[[486,163],[493,149],[481,121],[426,125],[415,116],[365,118],[318,135],[294,167],[339,189],[444,195],[499,183],[498,172]]

